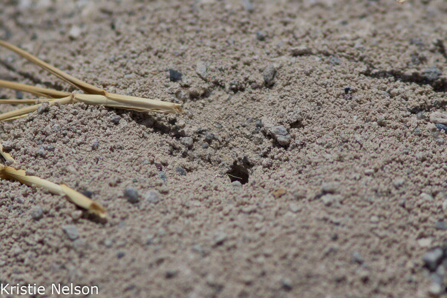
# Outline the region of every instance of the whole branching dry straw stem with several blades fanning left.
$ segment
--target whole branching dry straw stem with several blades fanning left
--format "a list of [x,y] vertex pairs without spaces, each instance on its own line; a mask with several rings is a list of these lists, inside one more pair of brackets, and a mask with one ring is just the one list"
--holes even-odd
[[[3,46],[9,50],[12,50],[16,54],[21,55],[25,59],[28,59],[30,62],[42,67],[46,71],[51,72],[60,79],[84,91],[86,94],[73,94],[68,92],[55,91],[46,88],[38,88],[35,86],[9,82],[5,80],[0,80],[0,87],[11,88],[23,92],[33,93],[38,96],[58,99],[58,100],[50,100],[49,101],[50,105],[54,105],[56,102],[59,102],[60,104],[84,102],[85,104],[88,105],[104,105],[107,107],[130,109],[136,111],[176,113],[176,114],[183,112],[183,110],[181,109],[181,105],[179,104],[107,92],[104,89],[97,88],[91,84],[88,84],[86,82],[76,79],[73,76],[70,76],[69,74],[57,69],[56,67],[51,66],[48,63],[43,62],[42,60],[25,52],[24,50],[19,49],[17,46],[9,44],[8,42],[0,40],[0,46]],[[3,100],[0,103],[15,105],[18,102],[30,103],[30,101],[17,101],[17,100]],[[12,120],[23,117],[28,113],[35,111],[39,107],[39,105],[41,104],[33,105],[23,109],[17,109],[16,111],[13,112],[4,113],[0,115],[0,120]]]

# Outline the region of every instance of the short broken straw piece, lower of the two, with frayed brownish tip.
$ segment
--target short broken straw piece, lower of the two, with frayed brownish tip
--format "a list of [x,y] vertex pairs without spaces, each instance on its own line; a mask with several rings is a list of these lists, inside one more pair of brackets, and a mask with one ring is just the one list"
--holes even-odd
[[78,193],[76,190],[69,188],[65,184],[59,185],[36,176],[28,176],[24,170],[16,170],[15,168],[4,166],[2,164],[0,164],[0,178],[17,180],[29,186],[36,185],[54,194],[65,195],[68,201],[96,214],[100,218],[105,218],[107,215],[105,208],[101,206],[101,204]]

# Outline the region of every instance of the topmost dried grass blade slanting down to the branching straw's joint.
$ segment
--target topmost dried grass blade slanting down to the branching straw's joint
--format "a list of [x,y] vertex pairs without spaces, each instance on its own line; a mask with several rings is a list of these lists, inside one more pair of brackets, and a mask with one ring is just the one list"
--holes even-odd
[[21,55],[23,58],[28,59],[32,63],[42,67],[46,71],[51,72],[53,75],[59,77],[60,79],[66,81],[67,83],[75,86],[76,88],[81,89],[85,93],[105,95],[104,89],[97,88],[93,85],[85,83],[84,81],[76,79],[74,76],[70,76],[69,74],[57,69],[56,67],[53,67],[46,62],[43,62],[41,59],[38,59],[37,57],[25,52],[24,50],[19,49],[17,46],[13,46],[12,44],[10,44],[8,42],[4,42],[2,40],[0,40],[0,46],[3,46],[5,48],[7,48],[8,50],[12,50],[16,54]]

